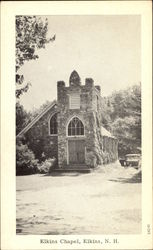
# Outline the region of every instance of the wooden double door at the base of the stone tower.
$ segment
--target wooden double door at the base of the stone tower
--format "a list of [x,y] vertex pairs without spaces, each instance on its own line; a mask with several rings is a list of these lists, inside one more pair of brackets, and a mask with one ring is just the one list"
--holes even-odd
[[69,164],[85,163],[85,145],[83,140],[68,141]]

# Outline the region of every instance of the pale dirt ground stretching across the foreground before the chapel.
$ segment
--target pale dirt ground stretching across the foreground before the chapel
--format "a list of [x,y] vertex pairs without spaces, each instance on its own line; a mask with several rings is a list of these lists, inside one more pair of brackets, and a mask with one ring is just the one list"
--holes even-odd
[[119,164],[90,174],[17,177],[17,233],[138,234],[141,180]]

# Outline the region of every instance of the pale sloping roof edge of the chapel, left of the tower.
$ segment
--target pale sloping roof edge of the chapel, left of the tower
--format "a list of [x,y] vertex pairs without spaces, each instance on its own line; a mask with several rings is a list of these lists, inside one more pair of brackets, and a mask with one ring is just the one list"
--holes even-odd
[[57,101],[54,100],[51,104],[49,104],[39,115],[37,115],[21,132],[17,135],[17,137],[24,135],[40,118],[45,115],[51,108],[57,105]]

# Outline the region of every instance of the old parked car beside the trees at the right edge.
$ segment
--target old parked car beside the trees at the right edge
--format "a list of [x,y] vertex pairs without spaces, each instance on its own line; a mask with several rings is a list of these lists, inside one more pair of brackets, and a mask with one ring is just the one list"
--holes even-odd
[[127,154],[124,158],[119,159],[121,166],[126,167],[135,167],[140,168],[141,167],[141,155],[140,154]]

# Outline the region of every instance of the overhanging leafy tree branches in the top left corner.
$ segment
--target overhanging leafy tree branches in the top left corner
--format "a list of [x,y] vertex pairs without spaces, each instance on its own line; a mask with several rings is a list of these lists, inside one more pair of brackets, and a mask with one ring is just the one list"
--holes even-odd
[[36,16],[16,16],[16,97],[27,92],[30,83],[24,84],[24,76],[19,69],[26,61],[38,58],[37,49],[55,40],[47,38],[48,21]]

